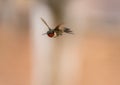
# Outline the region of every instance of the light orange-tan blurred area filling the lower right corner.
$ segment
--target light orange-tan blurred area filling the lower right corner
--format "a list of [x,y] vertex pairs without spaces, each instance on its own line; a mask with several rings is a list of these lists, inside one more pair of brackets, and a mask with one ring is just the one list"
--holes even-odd
[[107,33],[91,31],[82,41],[82,85],[120,85],[120,34]]

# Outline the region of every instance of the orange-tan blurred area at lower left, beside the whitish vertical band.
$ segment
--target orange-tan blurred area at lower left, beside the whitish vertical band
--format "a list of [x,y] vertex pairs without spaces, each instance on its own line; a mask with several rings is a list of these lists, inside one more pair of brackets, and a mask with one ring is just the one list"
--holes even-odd
[[0,85],[30,85],[28,33],[0,28]]

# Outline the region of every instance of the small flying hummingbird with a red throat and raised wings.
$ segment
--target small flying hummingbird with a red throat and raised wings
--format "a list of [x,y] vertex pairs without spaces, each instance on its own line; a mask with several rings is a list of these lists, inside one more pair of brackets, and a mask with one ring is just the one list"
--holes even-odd
[[48,31],[44,34],[47,34],[48,37],[50,37],[50,38],[56,38],[58,36],[63,35],[63,33],[73,34],[73,32],[70,30],[70,28],[62,27],[62,24],[59,24],[54,29],[52,29],[52,28],[50,28],[50,26],[47,24],[47,22],[43,18],[41,18],[41,20],[48,28]]

